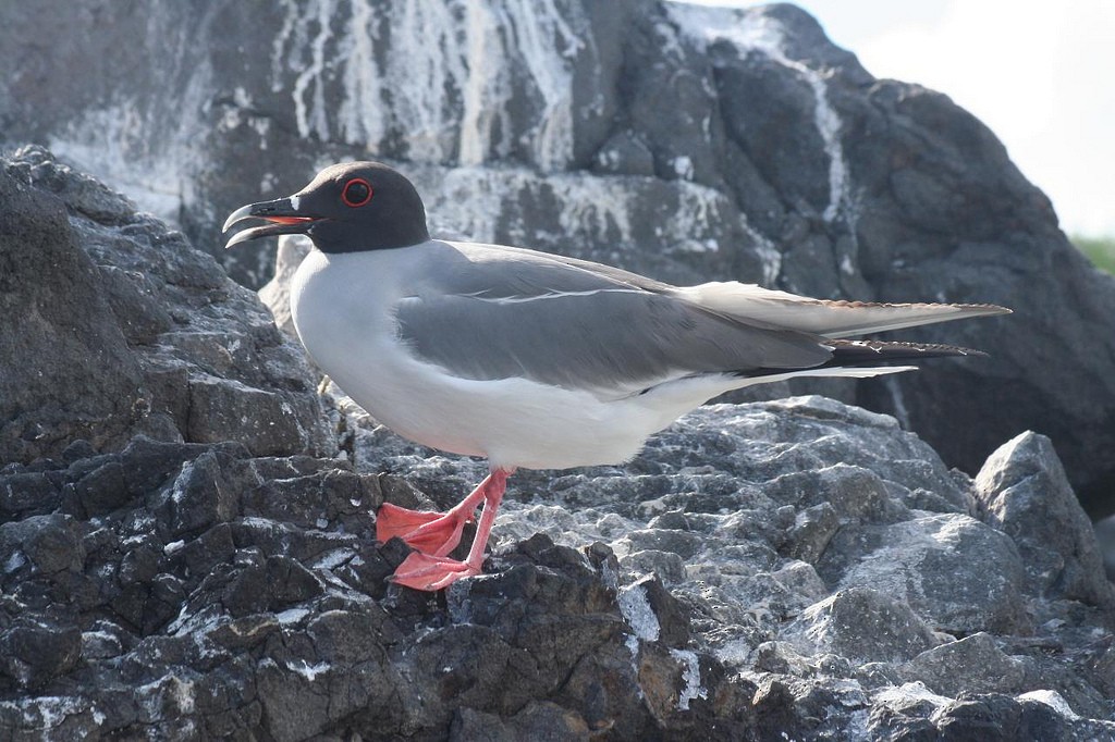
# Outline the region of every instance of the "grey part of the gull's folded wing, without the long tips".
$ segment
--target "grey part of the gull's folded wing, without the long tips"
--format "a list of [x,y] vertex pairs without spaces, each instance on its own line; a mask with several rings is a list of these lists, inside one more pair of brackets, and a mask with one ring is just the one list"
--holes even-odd
[[502,247],[471,246],[465,258],[440,261],[396,312],[411,351],[462,378],[624,393],[831,358],[816,335],[710,313],[617,269]]

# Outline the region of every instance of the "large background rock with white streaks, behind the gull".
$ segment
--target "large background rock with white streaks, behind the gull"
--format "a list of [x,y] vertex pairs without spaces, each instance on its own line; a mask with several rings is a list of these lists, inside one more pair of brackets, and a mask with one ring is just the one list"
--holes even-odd
[[0,136],[110,178],[253,286],[273,256],[222,254],[223,217],[370,155],[414,176],[442,236],[1009,305],[908,333],[989,360],[794,389],[894,414],[969,472],[1036,430],[1094,515],[1115,502],[1115,283],[985,126],[873,78],[792,6],[11,2],[0,61]]

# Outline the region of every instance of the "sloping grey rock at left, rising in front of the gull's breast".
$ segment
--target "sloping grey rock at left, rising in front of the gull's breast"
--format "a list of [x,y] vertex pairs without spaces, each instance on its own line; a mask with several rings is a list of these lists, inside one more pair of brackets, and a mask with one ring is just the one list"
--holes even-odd
[[[180,233],[41,148],[0,162],[0,458],[136,433],[334,449],[300,350]],[[126,497],[122,472],[89,476],[75,485],[89,511]]]

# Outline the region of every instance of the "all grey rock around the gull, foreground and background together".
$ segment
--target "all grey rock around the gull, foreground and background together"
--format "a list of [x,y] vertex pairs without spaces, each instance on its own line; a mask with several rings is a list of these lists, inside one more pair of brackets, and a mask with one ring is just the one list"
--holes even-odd
[[[785,4],[45,0],[0,61],[0,739],[1115,740],[1115,282],[946,96]],[[217,236],[369,153],[438,236],[1015,314],[521,471],[486,575],[399,589],[376,508],[484,463],[241,285],[283,325],[304,246]]]

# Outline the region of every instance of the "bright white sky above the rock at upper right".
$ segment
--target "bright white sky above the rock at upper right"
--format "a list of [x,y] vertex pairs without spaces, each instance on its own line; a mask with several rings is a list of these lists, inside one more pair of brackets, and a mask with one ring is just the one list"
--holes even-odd
[[1115,235],[1115,0],[796,4],[875,77],[940,90],[979,117],[1065,232]]

